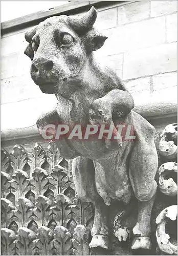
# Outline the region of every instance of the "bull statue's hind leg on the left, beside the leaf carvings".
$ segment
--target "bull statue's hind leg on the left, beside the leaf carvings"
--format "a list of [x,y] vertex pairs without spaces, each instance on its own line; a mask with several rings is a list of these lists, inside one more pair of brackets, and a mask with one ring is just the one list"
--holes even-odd
[[92,228],[93,239],[90,247],[108,248],[108,206],[99,196],[95,186],[95,167],[93,161],[79,156],[73,159],[73,178],[78,198],[83,201],[93,202],[95,218]]

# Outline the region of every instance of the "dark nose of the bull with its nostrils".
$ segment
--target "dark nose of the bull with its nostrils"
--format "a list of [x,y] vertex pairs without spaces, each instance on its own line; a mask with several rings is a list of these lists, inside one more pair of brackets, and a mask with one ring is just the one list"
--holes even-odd
[[38,71],[51,71],[53,69],[54,63],[52,60],[47,60],[43,58],[37,58],[32,62],[32,72],[36,73]]

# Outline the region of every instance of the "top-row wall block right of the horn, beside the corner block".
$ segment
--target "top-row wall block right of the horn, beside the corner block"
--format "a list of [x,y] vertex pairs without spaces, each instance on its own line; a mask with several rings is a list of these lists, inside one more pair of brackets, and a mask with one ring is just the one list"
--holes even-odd
[[133,2],[118,7],[118,25],[138,22],[149,17],[149,1]]

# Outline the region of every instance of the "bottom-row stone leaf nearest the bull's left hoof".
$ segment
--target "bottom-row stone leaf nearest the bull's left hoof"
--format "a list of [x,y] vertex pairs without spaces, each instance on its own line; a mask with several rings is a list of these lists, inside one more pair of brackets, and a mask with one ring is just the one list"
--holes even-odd
[[89,243],[91,242],[90,229],[84,225],[77,225],[73,233],[74,254],[90,254]]

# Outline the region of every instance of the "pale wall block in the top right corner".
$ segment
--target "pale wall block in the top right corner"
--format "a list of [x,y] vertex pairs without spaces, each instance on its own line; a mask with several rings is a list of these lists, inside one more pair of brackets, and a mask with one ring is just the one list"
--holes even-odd
[[151,17],[177,11],[177,1],[150,1]]

